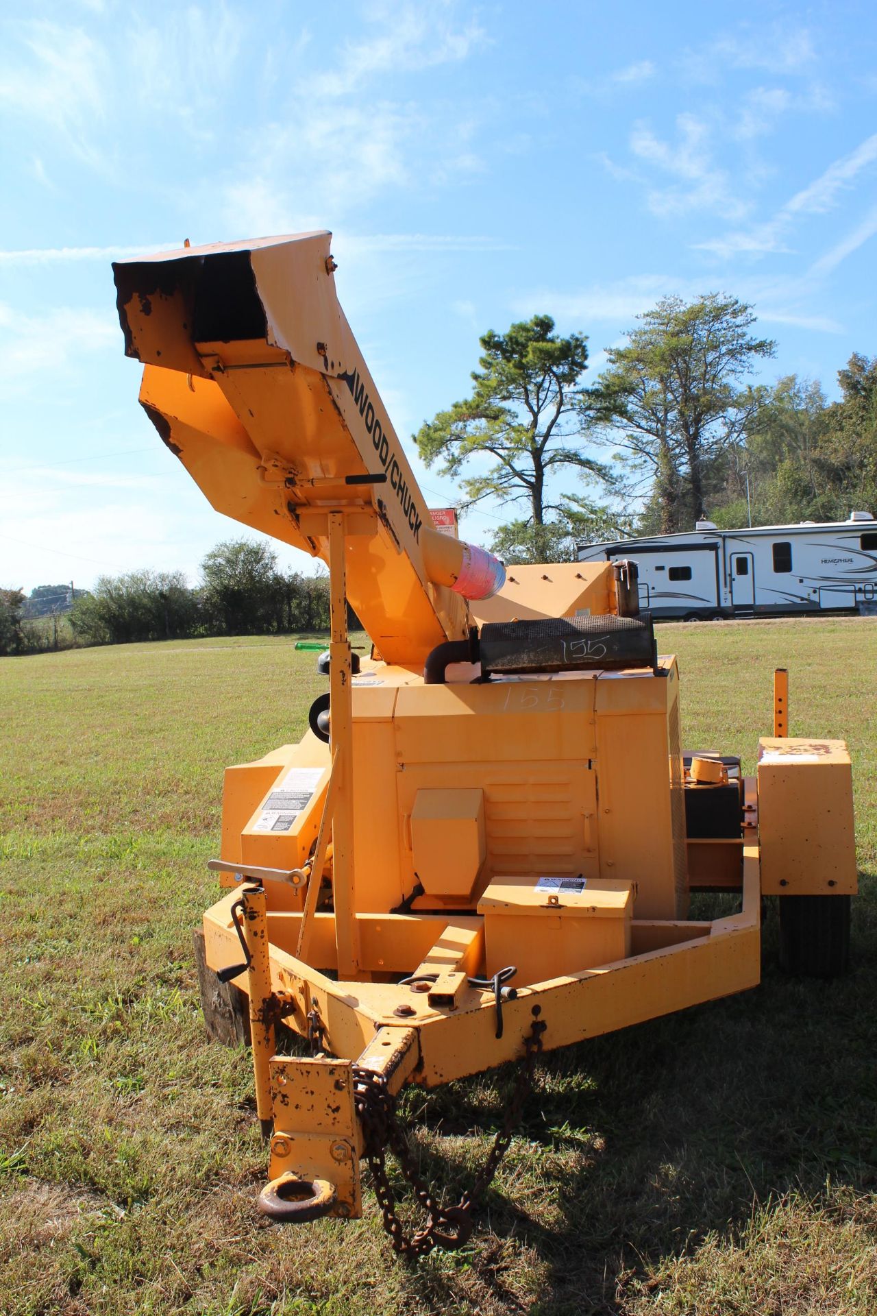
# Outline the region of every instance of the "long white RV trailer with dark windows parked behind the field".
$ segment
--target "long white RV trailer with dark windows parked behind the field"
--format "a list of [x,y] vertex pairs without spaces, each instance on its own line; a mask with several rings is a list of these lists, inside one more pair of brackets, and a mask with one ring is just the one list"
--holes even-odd
[[579,545],[580,562],[628,558],[639,604],[682,621],[806,612],[877,613],[877,521],[802,521]]

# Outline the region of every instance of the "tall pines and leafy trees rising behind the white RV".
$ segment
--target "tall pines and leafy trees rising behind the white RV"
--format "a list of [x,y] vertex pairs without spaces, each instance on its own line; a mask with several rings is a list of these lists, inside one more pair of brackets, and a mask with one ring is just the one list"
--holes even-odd
[[776,343],[736,297],[661,299],[593,384],[585,336],[559,336],[551,316],[480,343],[469,396],[414,442],[460,480],[462,512],[485,497],[510,509],[490,545],[508,562],[572,559],[577,542],[705,516],[732,528],[877,504],[877,358],[851,357],[835,403],[794,375],[756,383]]

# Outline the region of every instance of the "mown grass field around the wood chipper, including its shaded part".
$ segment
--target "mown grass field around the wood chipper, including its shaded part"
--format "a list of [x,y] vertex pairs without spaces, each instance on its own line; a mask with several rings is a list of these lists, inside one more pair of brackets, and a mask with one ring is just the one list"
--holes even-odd
[[[770,672],[841,736],[863,898],[852,973],[760,988],[552,1055],[455,1254],[366,1219],[267,1227],[249,1054],[204,1038],[191,929],[222,767],[300,737],[325,682],[288,640],[0,661],[0,1312],[798,1316],[877,1311],[877,622],[664,626],[684,741],[752,770]],[[405,1115],[458,1188],[506,1071]]]

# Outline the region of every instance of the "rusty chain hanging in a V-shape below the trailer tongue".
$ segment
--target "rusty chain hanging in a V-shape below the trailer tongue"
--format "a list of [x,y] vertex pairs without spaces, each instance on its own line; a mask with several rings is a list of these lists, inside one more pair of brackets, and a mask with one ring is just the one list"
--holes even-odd
[[[396,1115],[396,1100],[387,1090],[387,1080],[381,1074],[354,1066],[356,1113],[363,1126],[364,1155],[372,1171],[384,1229],[396,1252],[408,1257],[423,1257],[437,1246],[452,1252],[462,1248],[471,1237],[473,1211],[492,1183],[502,1157],[509,1150],[514,1130],[521,1123],[525,1099],[533,1090],[533,1073],[542,1051],[544,1030],[543,1020],[534,1017],[530,1032],[523,1040],[523,1065],[490,1153],[472,1187],[463,1194],[456,1207],[447,1209],[438,1204],[417,1173],[417,1162]],[[426,1224],[413,1234],[405,1233],[396,1213],[396,1196],[387,1173],[388,1148],[398,1161],[414,1198],[426,1213]]]

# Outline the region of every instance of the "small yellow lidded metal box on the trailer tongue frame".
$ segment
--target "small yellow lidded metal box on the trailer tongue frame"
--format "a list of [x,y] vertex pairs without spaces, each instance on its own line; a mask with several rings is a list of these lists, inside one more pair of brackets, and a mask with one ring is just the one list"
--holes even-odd
[[488,975],[515,965],[525,986],[623,959],[634,895],[632,883],[601,878],[496,878],[479,900]]

